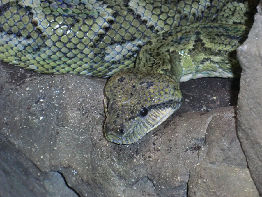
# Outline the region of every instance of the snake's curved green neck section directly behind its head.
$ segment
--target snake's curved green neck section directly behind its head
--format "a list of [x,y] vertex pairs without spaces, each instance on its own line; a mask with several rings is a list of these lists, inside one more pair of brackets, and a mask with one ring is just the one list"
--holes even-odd
[[194,24],[146,43],[136,68],[171,76],[177,83],[202,77],[238,77],[236,48],[247,38],[245,25]]

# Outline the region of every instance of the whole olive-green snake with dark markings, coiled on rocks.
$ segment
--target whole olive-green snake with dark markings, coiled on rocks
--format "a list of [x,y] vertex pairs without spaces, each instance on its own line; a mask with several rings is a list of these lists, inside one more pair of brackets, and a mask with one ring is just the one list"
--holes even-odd
[[2,0],[0,60],[43,74],[109,77],[105,137],[132,144],[182,101],[180,82],[238,77],[258,1]]

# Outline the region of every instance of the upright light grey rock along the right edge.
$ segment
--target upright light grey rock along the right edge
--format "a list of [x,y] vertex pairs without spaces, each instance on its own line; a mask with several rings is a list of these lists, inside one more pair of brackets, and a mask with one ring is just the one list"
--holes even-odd
[[251,176],[262,195],[262,11],[261,4],[248,39],[238,48],[242,66],[238,98],[238,137],[247,157]]

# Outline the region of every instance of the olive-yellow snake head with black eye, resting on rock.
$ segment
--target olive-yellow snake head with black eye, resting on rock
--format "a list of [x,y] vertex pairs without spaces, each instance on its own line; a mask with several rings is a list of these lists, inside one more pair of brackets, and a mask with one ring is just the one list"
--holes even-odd
[[137,69],[114,74],[105,86],[105,136],[132,144],[160,125],[181,104],[179,84],[171,77]]

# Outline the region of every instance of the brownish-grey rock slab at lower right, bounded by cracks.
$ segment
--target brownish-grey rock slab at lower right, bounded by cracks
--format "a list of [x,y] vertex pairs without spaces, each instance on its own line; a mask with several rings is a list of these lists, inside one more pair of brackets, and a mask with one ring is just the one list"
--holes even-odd
[[232,115],[221,113],[210,121],[206,146],[199,150],[199,161],[190,171],[188,196],[259,196]]

